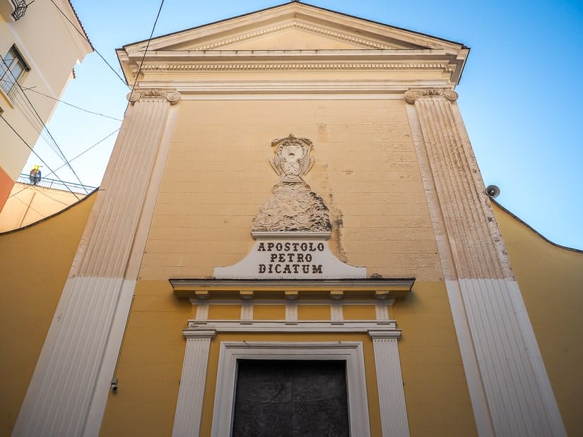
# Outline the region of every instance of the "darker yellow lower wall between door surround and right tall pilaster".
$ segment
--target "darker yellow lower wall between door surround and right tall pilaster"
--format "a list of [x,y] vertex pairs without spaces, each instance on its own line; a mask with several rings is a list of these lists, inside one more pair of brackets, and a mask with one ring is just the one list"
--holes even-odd
[[399,355],[411,436],[476,436],[445,284],[416,282],[389,313],[402,330]]

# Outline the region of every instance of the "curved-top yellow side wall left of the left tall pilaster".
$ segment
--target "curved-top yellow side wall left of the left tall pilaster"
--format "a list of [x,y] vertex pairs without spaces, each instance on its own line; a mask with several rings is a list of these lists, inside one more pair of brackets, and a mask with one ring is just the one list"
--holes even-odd
[[0,234],[0,435],[18,416],[95,195]]

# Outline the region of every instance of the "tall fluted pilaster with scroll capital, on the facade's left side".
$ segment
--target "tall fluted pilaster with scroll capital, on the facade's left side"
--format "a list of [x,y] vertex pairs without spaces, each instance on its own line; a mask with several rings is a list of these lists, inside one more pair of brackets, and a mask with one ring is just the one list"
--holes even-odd
[[131,95],[13,436],[98,434],[178,100]]

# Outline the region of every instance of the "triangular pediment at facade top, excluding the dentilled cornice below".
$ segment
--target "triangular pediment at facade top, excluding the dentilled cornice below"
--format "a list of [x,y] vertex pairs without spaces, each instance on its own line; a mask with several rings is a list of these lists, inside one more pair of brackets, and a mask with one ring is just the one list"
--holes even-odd
[[[141,52],[147,42],[124,46]],[[418,50],[461,44],[291,2],[153,39],[148,50]]]

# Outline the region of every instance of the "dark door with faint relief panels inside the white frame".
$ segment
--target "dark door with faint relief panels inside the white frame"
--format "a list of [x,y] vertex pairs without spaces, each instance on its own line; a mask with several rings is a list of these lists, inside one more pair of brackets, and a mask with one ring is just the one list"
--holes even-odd
[[348,437],[346,361],[238,360],[233,437]]

